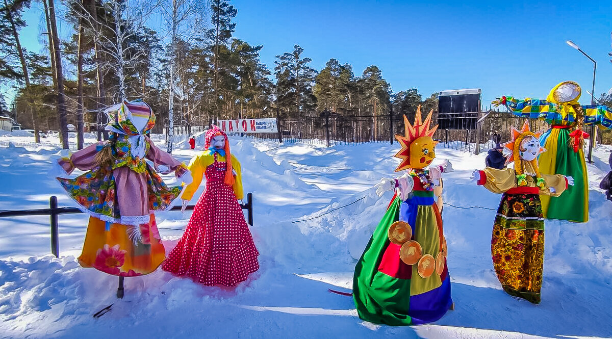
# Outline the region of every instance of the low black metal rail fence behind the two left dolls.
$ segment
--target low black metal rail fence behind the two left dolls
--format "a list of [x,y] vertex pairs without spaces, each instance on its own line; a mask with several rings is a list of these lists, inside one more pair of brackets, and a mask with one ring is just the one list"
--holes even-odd
[[[193,210],[195,205],[189,205],[185,210]],[[253,193],[247,193],[247,203],[240,204],[242,209],[247,210],[248,225],[253,226]],[[181,206],[174,206],[170,210],[181,210]],[[0,217],[18,217],[20,215],[49,215],[51,227],[51,253],[59,257],[59,227],[58,215],[83,213],[82,210],[76,207],[58,207],[58,197],[51,196],[49,198],[49,208],[44,209],[27,209],[27,210],[0,210]]]

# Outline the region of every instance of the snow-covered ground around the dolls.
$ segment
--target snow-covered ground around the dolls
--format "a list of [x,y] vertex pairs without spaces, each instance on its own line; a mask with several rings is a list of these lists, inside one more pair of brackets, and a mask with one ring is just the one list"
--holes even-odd
[[[86,143],[93,143],[88,135]],[[161,136],[154,138],[162,144]],[[46,175],[58,140],[0,135],[0,209],[73,206]],[[71,140],[73,146],[73,140]],[[588,164],[590,221],[546,223],[542,304],[501,290],[490,258],[499,195],[469,181],[484,154],[438,148],[455,171],[445,176],[444,229],[456,308],[434,324],[378,326],[361,321],[349,291],[356,259],[384,214],[391,193],[371,186],[391,176],[397,144],[324,147],[233,138],[245,191],[255,199],[251,228],[261,269],[235,289],[201,286],[157,270],[125,280],[76,263],[86,230],[83,214],[59,216],[60,258],[50,253],[49,217],[0,219],[0,338],[602,338],[612,336],[612,203],[599,190],[611,147]],[[197,151],[197,150],[196,150]],[[196,152],[177,149],[187,162]],[[168,182],[173,178],[165,177]],[[200,188],[201,190],[203,187]],[[196,197],[199,194],[195,195]],[[178,203],[178,202],[177,202]],[[192,204],[195,203],[192,201]],[[158,216],[170,250],[189,214]],[[101,318],[92,314],[106,305]]]

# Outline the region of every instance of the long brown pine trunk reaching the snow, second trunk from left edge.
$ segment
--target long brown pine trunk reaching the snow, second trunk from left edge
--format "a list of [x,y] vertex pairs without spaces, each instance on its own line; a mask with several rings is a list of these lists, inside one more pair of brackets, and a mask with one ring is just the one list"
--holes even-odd
[[62,70],[62,53],[59,48],[58,24],[55,20],[55,4],[54,0],[48,1],[49,20],[51,26],[51,35],[53,36],[53,45],[51,46],[55,57],[55,73],[58,77],[56,90],[58,91],[58,115],[59,115],[59,131],[62,136],[62,149],[68,149],[68,121],[66,116],[66,99],[64,93],[64,72]]

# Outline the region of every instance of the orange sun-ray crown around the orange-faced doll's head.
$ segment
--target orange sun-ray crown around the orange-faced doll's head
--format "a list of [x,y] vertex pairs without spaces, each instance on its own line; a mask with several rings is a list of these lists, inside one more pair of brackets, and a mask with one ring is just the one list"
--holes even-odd
[[[395,169],[396,172],[408,170],[411,168],[410,164],[410,144],[412,141],[417,140],[422,136],[429,136],[433,138],[433,134],[436,133],[438,129],[438,125],[435,125],[432,129],[430,129],[431,125],[431,114],[433,114],[433,110],[429,111],[427,118],[425,121],[421,119],[420,113],[420,105],[417,107],[417,114],[414,117],[414,124],[410,124],[408,121],[408,117],[404,114],[404,126],[405,126],[405,136],[395,135],[395,140],[401,145],[401,149],[397,154],[394,155],[396,158],[400,158],[400,165]],[[437,141],[434,141],[436,144]]]

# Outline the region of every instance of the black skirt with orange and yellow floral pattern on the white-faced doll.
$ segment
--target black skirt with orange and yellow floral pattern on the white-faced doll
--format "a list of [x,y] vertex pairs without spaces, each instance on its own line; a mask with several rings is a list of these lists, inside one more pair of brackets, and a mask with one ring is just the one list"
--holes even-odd
[[491,237],[493,267],[504,291],[540,302],[544,261],[544,218],[540,196],[502,196]]

